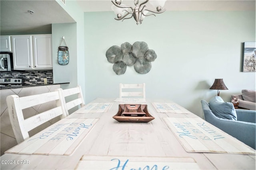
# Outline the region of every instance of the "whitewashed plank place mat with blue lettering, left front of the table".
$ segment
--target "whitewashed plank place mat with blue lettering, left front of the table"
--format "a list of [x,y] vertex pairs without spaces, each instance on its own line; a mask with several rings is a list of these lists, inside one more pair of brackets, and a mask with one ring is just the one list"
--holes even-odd
[[70,155],[98,119],[61,119],[6,153]]

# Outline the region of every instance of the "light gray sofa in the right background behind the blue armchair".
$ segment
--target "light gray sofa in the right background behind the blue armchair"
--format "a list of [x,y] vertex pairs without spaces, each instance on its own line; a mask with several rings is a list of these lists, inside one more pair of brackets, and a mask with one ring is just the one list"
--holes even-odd
[[243,107],[249,110],[256,110],[256,91],[242,90],[242,94],[233,94],[231,98],[238,98],[238,107]]

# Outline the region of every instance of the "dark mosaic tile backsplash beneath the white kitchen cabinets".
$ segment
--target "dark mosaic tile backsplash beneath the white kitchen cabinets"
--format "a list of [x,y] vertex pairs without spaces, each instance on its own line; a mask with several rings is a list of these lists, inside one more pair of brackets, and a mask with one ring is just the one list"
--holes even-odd
[[44,78],[47,84],[53,83],[52,70],[0,72],[0,78],[23,78],[24,85],[44,84]]

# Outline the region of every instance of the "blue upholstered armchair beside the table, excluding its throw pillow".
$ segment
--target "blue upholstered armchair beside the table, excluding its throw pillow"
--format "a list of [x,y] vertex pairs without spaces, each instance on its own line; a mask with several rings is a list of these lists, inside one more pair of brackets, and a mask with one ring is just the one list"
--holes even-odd
[[201,100],[201,103],[207,122],[255,149],[256,111],[236,109],[237,120],[230,120],[214,115],[205,100]]

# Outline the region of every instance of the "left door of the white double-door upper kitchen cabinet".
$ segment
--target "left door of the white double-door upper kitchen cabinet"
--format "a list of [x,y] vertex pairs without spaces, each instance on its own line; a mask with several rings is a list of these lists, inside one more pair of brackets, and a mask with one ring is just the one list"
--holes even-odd
[[14,69],[33,68],[31,35],[12,36],[12,52]]

